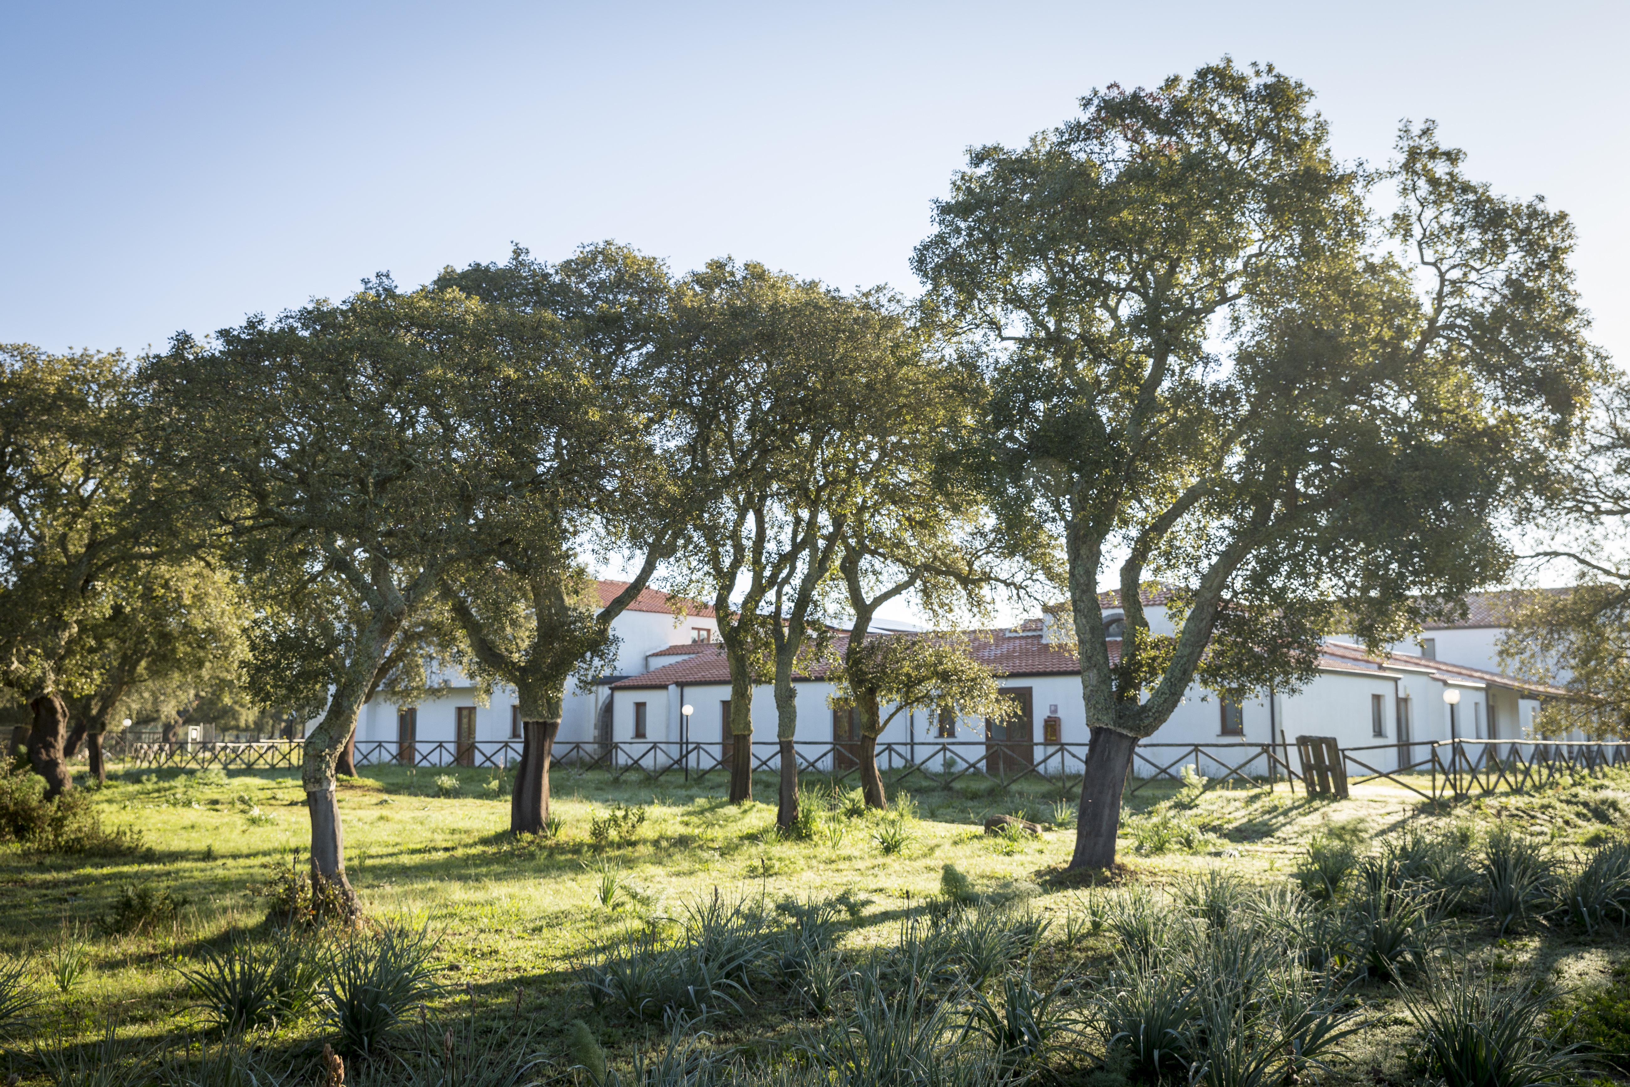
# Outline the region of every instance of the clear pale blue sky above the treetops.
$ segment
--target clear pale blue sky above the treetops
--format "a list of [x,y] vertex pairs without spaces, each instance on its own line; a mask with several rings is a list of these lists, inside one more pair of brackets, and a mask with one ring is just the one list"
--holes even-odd
[[914,292],[971,143],[1222,54],[1319,93],[1340,155],[1436,117],[1579,227],[1630,352],[1622,3],[0,7],[0,341],[161,345],[375,271],[616,238]]

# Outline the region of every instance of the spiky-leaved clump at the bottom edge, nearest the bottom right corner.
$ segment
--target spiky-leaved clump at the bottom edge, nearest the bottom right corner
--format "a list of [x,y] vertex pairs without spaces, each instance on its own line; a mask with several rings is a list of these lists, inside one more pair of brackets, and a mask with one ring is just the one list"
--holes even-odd
[[1416,1027],[1412,1066],[1444,1087],[1566,1084],[1578,1054],[1542,1030],[1550,1001],[1534,989],[1495,989],[1469,975],[1403,991]]

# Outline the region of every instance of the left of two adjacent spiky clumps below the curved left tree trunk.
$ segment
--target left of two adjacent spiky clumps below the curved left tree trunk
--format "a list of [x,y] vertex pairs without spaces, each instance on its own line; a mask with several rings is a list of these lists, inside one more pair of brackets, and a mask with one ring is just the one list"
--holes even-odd
[[225,950],[204,947],[181,976],[197,1007],[227,1030],[248,1030],[305,1010],[316,996],[321,960],[305,940],[284,934],[280,947],[235,935]]

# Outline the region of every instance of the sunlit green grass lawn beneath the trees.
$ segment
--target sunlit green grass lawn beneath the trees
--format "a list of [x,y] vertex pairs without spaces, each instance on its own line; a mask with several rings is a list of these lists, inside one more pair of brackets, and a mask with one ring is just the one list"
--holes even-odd
[[[1024,900],[1053,919],[1037,950],[1043,976],[1102,976],[1113,952],[1107,929],[1066,947],[1071,913],[1089,909],[1092,895],[1060,878],[1073,846],[1073,828],[1040,839],[983,831],[996,813],[1022,813],[1051,826],[1066,820],[1056,792],[1042,782],[999,792],[986,782],[924,789],[911,795],[914,818],[903,843],[880,843],[877,815],[841,812],[841,800],[804,841],[774,833],[769,803],[729,805],[724,776],[703,782],[632,777],[611,782],[603,772],[557,769],[553,812],[562,830],[554,841],[509,839],[509,781],[492,771],[368,768],[341,786],[347,870],[368,913],[429,924],[440,939],[435,970],[445,996],[427,1015],[445,1019],[474,1009],[479,1032],[530,1030],[531,1045],[549,1063],[543,1077],[569,1077],[569,1023],[584,1019],[613,1061],[662,1033],[655,1025],[595,1010],[575,968],[619,939],[672,929],[688,904],[716,888],[729,898],[833,900],[844,908],[839,947],[852,958],[892,947],[901,921],[926,911],[941,893],[944,865],[955,865],[975,891]],[[807,786],[818,787],[815,777]],[[910,787],[910,786],[908,786]],[[756,782],[773,797],[774,782]],[[1069,800],[1069,797],[1063,797]],[[595,820],[611,805],[644,815],[624,816],[593,841]],[[295,771],[218,774],[119,769],[96,794],[108,826],[127,825],[147,849],[124,859],[77,859],[10,849],[0,852],[3,927],[0,950],[26,957],[41,989],[51,992],[28,1030],[5,1048],[8,1071],[23,1082],[42,1079],[41,1054],[90,1046],[104,1025],[117,1023],[130,1051],[183,1051],[210,1038],[179,966],[200,947],[225,944],[231,931],[271,939],[267,901],[256,890],[280,869],[303,872],[308,841],[303,794]],[[634,825],[637,821],[637,825]],[[1408,830],[1441,831],[1469,823],[1477,833],[1514,826],[1544,838],[1568,857],[1630,828],[1630,776],[1578,777],[1521,795],[1459,805],[1426,803],[1395,786],[1358,786],[1343,802],[1319,802],[1276,789],[1152,784],[1128,805],[1118,885],[1178,887],[1208,870],[1250,883],[1284,882],[1315,838],[1376,849]],[[887,839],[887,834],[883,834]],[[885,852],[885,846],[892,851]],[[150,934],[104,934],[103,921],[130,887],[168,890],[181,901],[178,918]],[[608,890],[611,904],[603,898]],[[72,992],[55,991],[52,953],[77,939],[90,944],[90,968]],[[1560,992],[1630,986],[1623,932],[1583,934],[1565,926],[1527,924],[1496,937],[1493,922],[1475,916],[1438,929],[1446,958],[1474,965],[1500,979],[1542,976]],[[1614,971],[1619,975],[1614,975]],[[1087,984],[1086,988],[1090,988]],[[1082,991],[1086,991],[1086,988]],[[1332,1082],[1408,1080],[1403,1048],[1412,1036],[1395,989],[1366,981],[1351,989],[1366,1027],[1346,1045]],[[706,1045],[743,1054],[774,1051],[818,1025],[764,996],[714,1017]],[[262,1036],[262,1045],[303,1079],[315,1069],[328,1028],[313,1012]],[[1090,1045],[1087,1046],[1090,1048]],[[91,1050],[83,1050],[91,1053]],[[1089,1063],[1060,1058],[1051,1076],[1089,1079]],[[355,1077],[347,1082],[355,1082]]]

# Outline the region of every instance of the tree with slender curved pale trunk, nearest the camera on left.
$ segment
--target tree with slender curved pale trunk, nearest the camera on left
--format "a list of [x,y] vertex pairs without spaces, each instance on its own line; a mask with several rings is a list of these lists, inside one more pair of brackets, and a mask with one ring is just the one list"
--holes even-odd
[[[315,890],[355,909],[334,772],[391,649],[445,572],[489,554],[482,513],[523,500],[559,401],[559,321],[388,277],[342,303],[187,334],[147,365],[163,450],[262,588],[262,702],[321,714],[305,742]],[[271,698],[275,694],[277,698]]]

